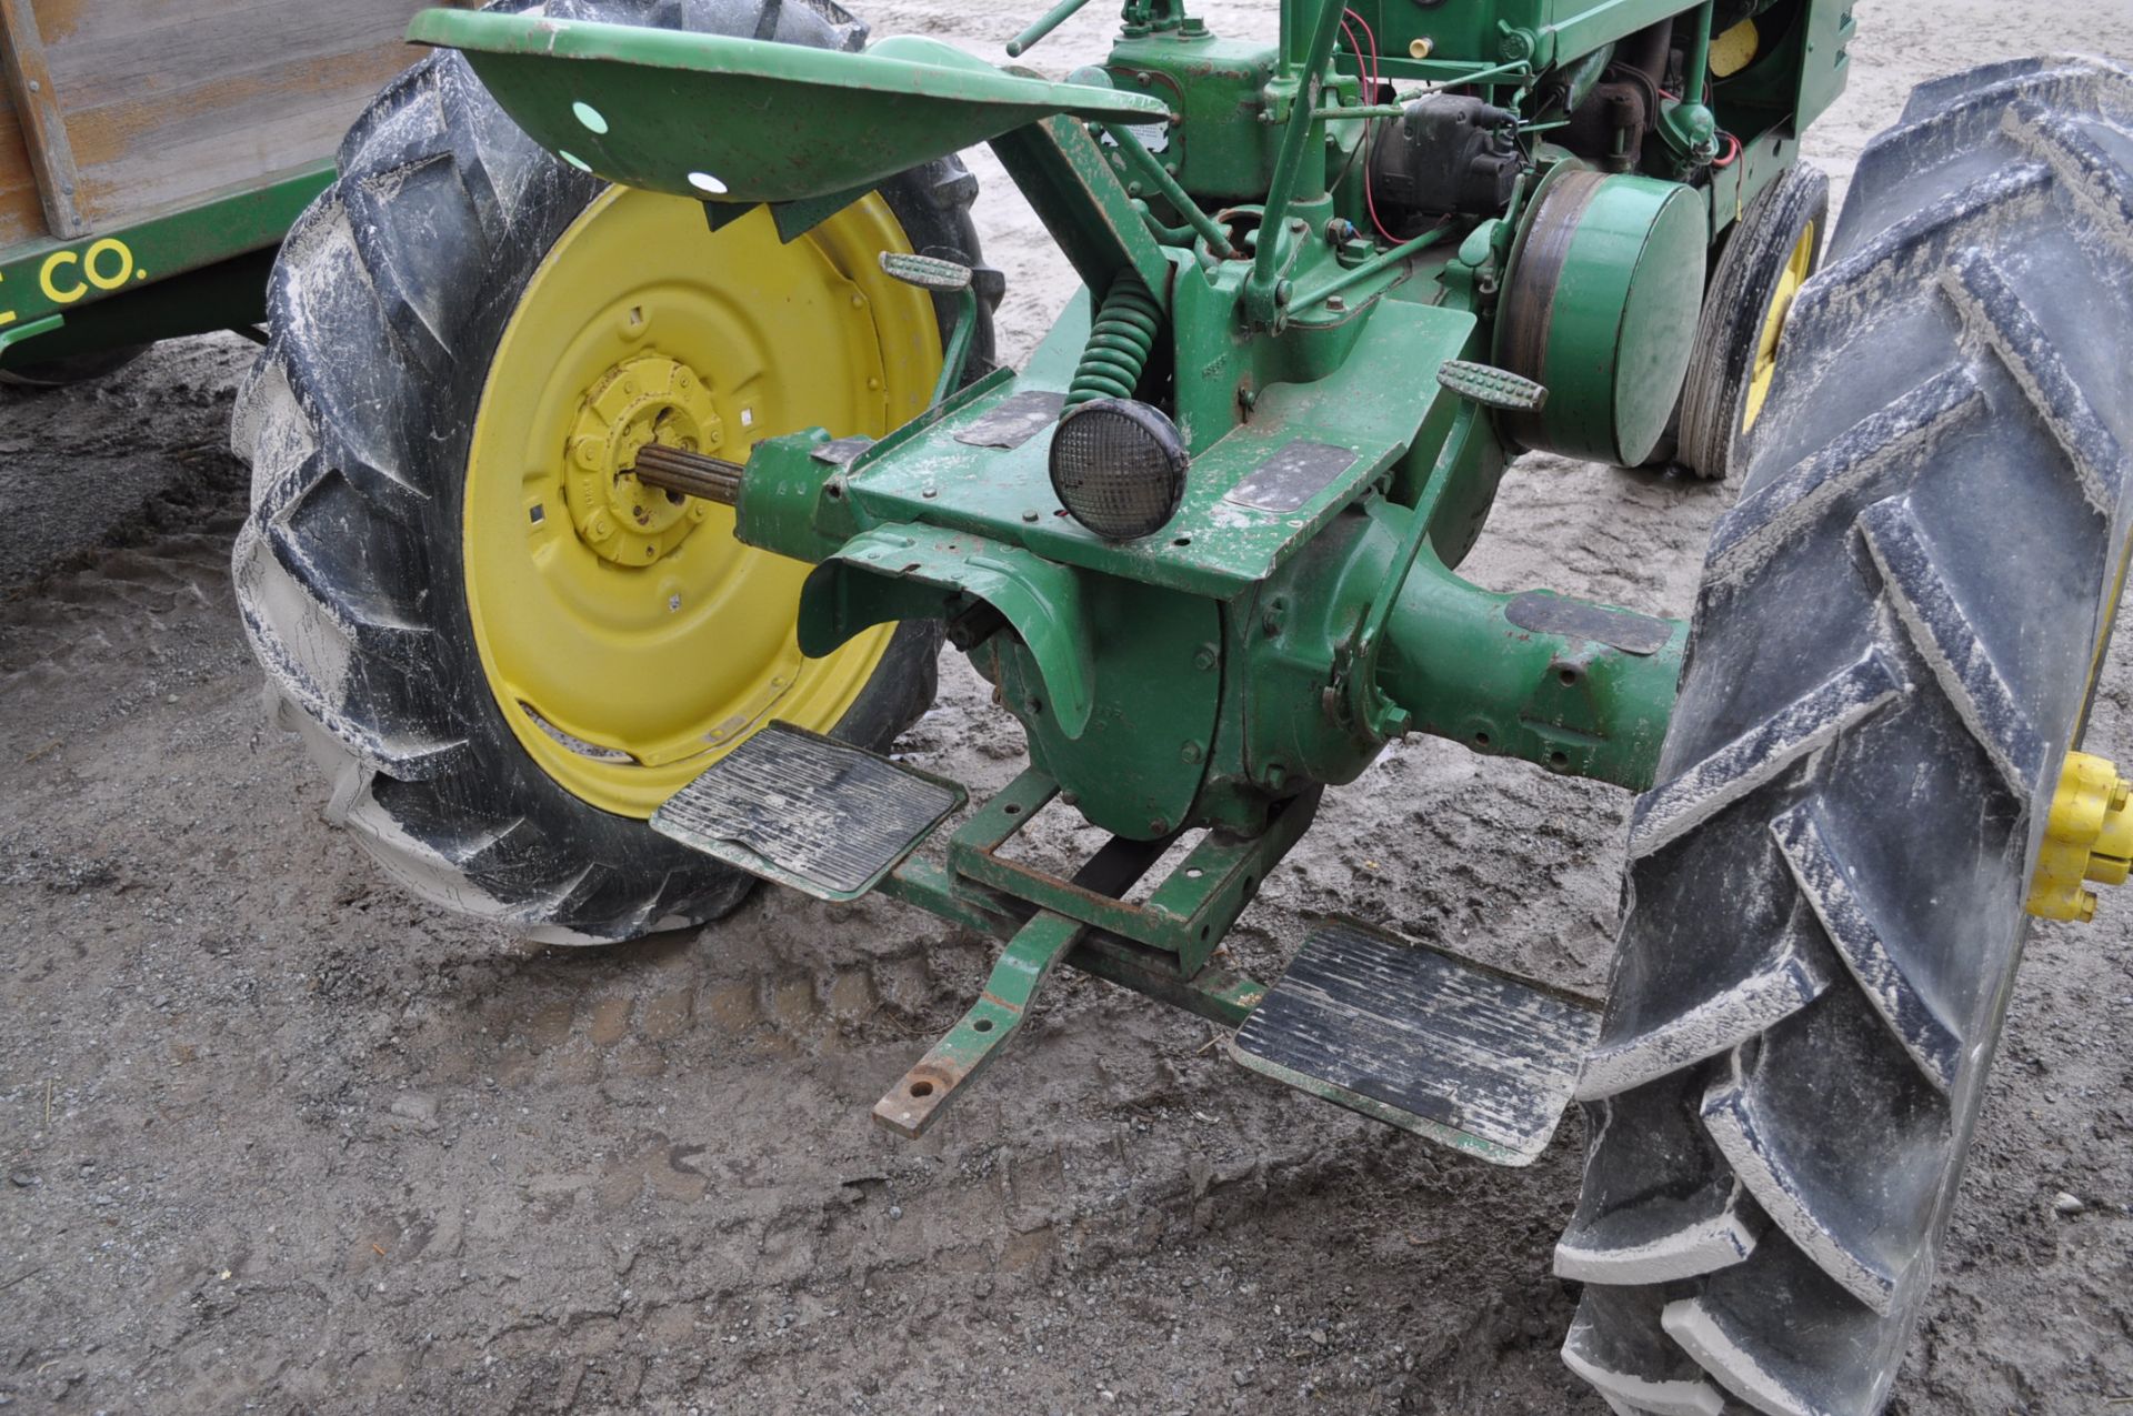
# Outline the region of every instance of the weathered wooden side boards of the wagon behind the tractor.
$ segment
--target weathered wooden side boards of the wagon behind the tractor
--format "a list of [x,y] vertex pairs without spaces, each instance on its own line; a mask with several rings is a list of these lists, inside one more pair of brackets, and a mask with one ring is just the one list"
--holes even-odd
[[[331,158],[363,104],[420,58],[401,32],[422,0],[9,2],[43,38],[90,230]],[[21,111],[4,100],[0,247],[62,235],[47,207]]]

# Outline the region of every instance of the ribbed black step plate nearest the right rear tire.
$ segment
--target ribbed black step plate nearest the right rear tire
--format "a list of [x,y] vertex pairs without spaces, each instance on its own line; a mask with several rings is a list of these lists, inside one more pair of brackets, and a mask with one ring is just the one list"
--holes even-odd
[[1512,975],[1327,923],[1244,1019],[1254,1073],[1495,1164],[1529,1164],[1600,1011]]

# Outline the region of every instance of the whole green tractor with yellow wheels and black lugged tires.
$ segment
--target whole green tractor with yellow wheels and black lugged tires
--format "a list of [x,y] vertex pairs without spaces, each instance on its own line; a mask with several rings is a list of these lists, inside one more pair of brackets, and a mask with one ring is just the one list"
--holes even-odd
[[[1920,87],[1830,232],[1798,145],[1851,30],[1126,0],[1043,77],[834,0],[427,11],[273,277],[245,629],[331,817],[433,900],[597,943],[772,879],[998,938],[898,1135],[1058,964],[1482,1160],[1578,1103],[1570,1367],[1625,1416],[1877,1412],[2026,917],[2133,859],[2075,751],[2133,75]],[[1022,369],[979,143],[1084,286]],[[1736,482],[1694,618],[1463,580],[1521,450]],[[883,755],[943,640],[1028,742],[975,810]],[[1216,955],[1404,734],[1642,793],[1604,1011],[1344,921],[1271,985]],[[1047,808],[1107,844],[1011,851]]]

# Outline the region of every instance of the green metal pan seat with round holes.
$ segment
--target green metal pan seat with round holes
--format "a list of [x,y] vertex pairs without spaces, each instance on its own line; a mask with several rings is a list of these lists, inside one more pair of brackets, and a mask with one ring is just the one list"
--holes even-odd
[[866,190],[1056,113],[1167,115],[1154,98],[1005,75],[919,36],[843,53],[544,15],[422,11],[407,38],[465,51],[518,126],[580,166],[729,203]]

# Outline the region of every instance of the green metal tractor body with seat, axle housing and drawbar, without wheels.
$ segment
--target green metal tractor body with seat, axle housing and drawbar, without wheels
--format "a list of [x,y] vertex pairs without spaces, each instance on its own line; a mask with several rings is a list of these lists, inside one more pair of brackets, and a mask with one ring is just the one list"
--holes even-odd
[[[1342,34],[1348,11],[1363,26]],[[1576,139],[1551,94],[1593,94],[1615,47],[1657,28],[1694,77],[1711,13],[1286,0],[1269,43],[1209,34],[1180,0],[1126,0],[1109,60],[1069,85],[934,41],[849,55],[523,15],[416,21],[416,38],[467,49],[542,143],[715,209],[768,200],[787,237],[868,183],[990,141],[1086,284],[1020,373],[943,384],[849,461],[821,433],[770,439],[742,480],[740,537],[817,563],[806,653],[883,621],[945,621],[1028,738],[1030,770],[953,827],[945,862],[919,853],[883,885],[1007,940],[979,1002],[883,1098],[887,1124],[924,1128],[1060,962],[1241,1019],[1263,989],[1222,972],[1214,947],[1318,791],[1404,731],[1649,783],[1685,629],[1482,591],[1457,567],[1521,427],[1538,427],[1519,418],[1589,456],[1651,448],[1709,247],[1843,83],[1843,0],[1802,0],[1743,73],[1668,96],[1642,158],[1623,160],[1636,171],[1589,181],[1576,222],[1542,220],[1544,183],[1606,160],[1555,145]],[[1395,232],[1357,166],[1421,83],[1510,111],[1523,168],[1497,209],[1410,213]],[[1504,377],[1499,311],[1536,230],[1561,264],[1531,326],[1544,371]],[[1113,542],[1058,503],[1047,452],[1092,337],[1088,290],[1122,275],[1160,313],[1137,397],[1173,418],[1190,473],[1169,525]],[[1071,879],[1007,849],[1054,802],[1111,834]],[[1209,836],[1184,866],[1124,902],[1192,827]]]

